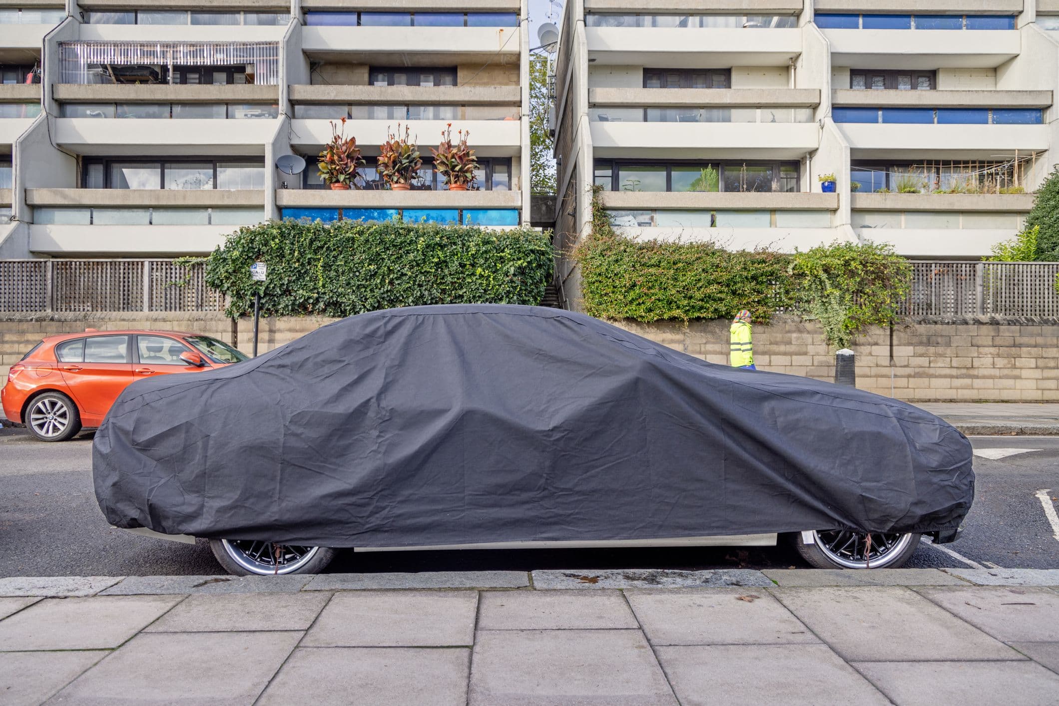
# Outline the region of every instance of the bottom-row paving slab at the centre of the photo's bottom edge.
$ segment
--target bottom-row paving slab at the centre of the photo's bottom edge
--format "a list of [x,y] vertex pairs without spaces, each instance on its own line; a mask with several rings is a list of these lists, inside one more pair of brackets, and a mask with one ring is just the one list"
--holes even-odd
[[468,703],[676,704],[639,630],[487,630],[478,634]]

